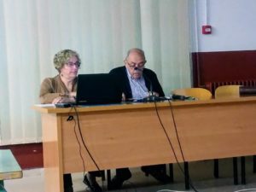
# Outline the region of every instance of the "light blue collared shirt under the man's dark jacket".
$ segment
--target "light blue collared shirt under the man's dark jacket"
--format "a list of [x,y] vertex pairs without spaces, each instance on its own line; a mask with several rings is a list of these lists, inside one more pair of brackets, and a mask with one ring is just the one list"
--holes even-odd
[[145,84],[143,76],[140,79],[133,79],[128,69],[126,68],[127,77],[131,85],[131,93],[133,99],[143,99],[148,96],[148,88]]

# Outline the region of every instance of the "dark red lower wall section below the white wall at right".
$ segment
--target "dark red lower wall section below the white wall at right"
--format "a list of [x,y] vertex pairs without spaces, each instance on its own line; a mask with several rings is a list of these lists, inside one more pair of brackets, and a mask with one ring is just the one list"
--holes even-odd
[[194,86],[256,79],[256,50],[192,53]]

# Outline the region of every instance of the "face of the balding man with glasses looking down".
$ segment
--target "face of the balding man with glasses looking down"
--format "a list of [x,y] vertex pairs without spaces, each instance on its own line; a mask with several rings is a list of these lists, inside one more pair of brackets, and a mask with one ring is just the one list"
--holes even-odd
[[143,75],[143,68],[146,61],[143,55],[131,52],[125,60],[125,67],[128,69],[133,79],[139,79]]

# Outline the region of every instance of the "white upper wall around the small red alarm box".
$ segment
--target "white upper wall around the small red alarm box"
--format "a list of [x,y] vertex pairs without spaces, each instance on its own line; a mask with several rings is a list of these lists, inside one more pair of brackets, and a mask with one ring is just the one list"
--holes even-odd
[[[191,8],[192,51],[256,49],[255,0],[194,0]],[[201,33],[206,24],[212,34]]]

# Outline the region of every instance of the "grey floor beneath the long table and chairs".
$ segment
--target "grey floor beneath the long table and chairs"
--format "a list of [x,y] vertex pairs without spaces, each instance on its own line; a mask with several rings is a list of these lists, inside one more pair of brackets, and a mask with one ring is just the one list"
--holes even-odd
[[[198,192],[256,192],[256,173],[253,173],[253,158],[246,158],[247,184],[234,185],[232,177],[232,161],[230,159],[219,160],[219,178],[212,177],[212,160],[202,160],[189,163],[191,181]],[[238,164],[240,165],[240,164]],[[160,185],[153,177],[145,177],[139,168],[132,168],[132,177],[125,182],[124,188],[119,192],[168,192],[168,191],[195,191],[185,190],[183,173],[177,164],[174,165],[174,183]],[[114,171],[112,172],[114,174]],[[44,168],[25,170],[24,177],[14,180],[6,180],[5,188],[8,192],[44,192]],[[240,177],[239,177],[240,179]],[[83,173],[73,174],[73,188],[76,192],[90,192],[83,180]],[[98,179],[98,183],[106,190],[106,181]]]

